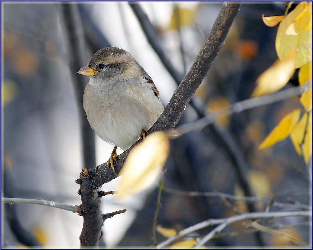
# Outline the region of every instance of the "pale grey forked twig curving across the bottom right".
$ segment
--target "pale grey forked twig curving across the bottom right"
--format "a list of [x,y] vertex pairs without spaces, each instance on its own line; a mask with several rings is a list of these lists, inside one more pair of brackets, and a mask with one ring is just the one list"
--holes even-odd
[[222,218],[222,219],[209,219],[203,222],[200,222],[198,224],[195,224],[189,228],[183,229],[182,231],[178,232],[177,235],[168,238],[167,240],[163,241],[162,243],[158,244],[156,248],[162,248],[165,246],[169,246],[172,242],[177,240],[178,238],[181,238],[182,236],[185,236],[189,233],[195,232],[199,229],[212,226],[212,225],[218,225],[216,228],[214,228],[208,235],[206,235],[198,244],[197,246],[202,246],[204,243],[206,243],[208,240],[210,240],[215,233],[223,230],[227,225],[245,220],[245,219],[257,219],[257,218],[278,218],[278,217],[292,217],[292,216],[303,216],[303,217],[309,217],[311,216],[310,211],[288,211],[288,212],[255,212],[255,213],[243,213],[240,215],[235,215],[228,218]]

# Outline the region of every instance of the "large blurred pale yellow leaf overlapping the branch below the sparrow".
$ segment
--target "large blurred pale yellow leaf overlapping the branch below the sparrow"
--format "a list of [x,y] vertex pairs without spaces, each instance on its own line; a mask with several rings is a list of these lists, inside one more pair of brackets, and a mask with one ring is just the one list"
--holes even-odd
[[136,145],[119,173],[122,179],[117,190],[118,197],[124,198],[150,187],[160,175],[169,150],[168,137],[161,131],[148,135]]

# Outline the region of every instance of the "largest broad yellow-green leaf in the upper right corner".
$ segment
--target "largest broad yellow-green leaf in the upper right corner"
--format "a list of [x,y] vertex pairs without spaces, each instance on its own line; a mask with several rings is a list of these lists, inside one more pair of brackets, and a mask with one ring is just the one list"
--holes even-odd
[[310,5],[300,2],[281,22],[276,35],[276,52],[280,60],[296,52],[295,68],[299,68],[312,60],[312,28],[296,33],[295,21]]

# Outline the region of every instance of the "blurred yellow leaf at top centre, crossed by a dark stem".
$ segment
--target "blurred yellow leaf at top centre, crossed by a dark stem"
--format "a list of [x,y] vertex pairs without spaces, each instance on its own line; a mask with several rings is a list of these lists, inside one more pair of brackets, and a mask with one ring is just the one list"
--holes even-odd
[[177,5],[173,9],[169,28],[178,30],[181,26],[191,26],[195,22],[195,10],[180,8]]

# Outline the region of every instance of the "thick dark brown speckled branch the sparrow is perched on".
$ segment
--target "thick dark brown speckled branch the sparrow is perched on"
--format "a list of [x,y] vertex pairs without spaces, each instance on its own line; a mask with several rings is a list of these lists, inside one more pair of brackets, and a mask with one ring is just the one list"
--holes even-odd
[[[157,130],[164,131],[175,127],[186,105],[207,74],[208,69],[222,47],[228,30],[239,11],[239,7],[239,3],[223,4],[208,39],[200,50],[191,69],[177,87],[164,112],[148,131],[149,133]],[[134,145],[138,142],[139,141]],[[116,173],[119,173],[121,170],[126,156],[132,147],[118,156],[118,162],[114,164]],[[101,197],[98,195],[98,189],[102,184],[115,178],[116,175],[111,169],[107,169],[107,163],[104,163],[94,169],[83,169],[80,174],[80,179],[76,181],[81,184],[78,193],[81,195],[82,204],[80,205],[80,211],[84,217],[83,230],[80,235],[81,246],[98,245],[102,226],[100,211]]]

